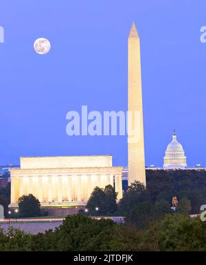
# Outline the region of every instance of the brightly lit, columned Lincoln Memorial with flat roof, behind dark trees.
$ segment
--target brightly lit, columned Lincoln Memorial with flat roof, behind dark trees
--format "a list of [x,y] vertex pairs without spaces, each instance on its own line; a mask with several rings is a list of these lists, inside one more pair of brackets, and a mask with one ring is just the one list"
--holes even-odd
[[[33,194],[41,206],[85,205],[93,189],[115,186],[122,198],[122,167],[113,167],[112,156],[21,157],[20,168],[10,169],[11,204]],[[115,183],[115,184],[114,184]]]

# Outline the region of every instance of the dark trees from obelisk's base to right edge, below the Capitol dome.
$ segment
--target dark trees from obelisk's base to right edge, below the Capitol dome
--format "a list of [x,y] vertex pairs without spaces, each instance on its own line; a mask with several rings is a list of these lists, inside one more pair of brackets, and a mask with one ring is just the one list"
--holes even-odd
[[206,204],[205,170],[146,170],[146,179],[146,187],[137,181],[132,183],[119,203],[119,214],[139,229],[172,214],[173,196],[179,200],[176,212],[185,215],[198,214],[201,205]]

